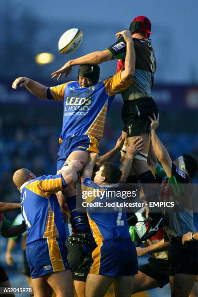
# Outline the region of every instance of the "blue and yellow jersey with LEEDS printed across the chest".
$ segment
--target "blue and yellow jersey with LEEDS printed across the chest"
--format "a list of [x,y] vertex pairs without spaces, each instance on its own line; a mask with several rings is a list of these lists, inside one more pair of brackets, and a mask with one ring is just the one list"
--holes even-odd
[[50,87],[48,99],[64,101],[63,128],[59,143],[75,135],[93,135],[101,139],[107,111],[116,93],[123,92],[132,80],[122,82],[121,70],[96,85],[81,88],[79,82]]

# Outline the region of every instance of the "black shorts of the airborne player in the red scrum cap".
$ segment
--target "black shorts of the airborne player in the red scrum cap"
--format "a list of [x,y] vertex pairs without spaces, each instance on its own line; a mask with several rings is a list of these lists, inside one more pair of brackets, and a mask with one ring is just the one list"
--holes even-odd
[[153,117],[153,113],[157,116],[158,107],[152,98],[124,101],[122,121],[124,123],[123,131],[127,132],[127,137],[149,133],[148,115]]

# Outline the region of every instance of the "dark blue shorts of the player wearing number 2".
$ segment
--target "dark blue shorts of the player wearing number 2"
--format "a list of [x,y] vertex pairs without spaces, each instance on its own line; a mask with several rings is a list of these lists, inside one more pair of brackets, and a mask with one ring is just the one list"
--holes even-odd
[[137,274],[137,252],[131,238],[105,240],[92,253],[91,274],[130,276]]

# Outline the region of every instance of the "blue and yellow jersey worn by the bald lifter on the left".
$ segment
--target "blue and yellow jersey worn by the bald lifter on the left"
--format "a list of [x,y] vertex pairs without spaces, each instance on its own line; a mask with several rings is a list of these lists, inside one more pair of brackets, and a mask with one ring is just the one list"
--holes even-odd
[[54,194],[62,189],[62,174],[40,176],[20,187],[21,211],[28,231],[27,245],[44,238],[66,241],[63,214]]

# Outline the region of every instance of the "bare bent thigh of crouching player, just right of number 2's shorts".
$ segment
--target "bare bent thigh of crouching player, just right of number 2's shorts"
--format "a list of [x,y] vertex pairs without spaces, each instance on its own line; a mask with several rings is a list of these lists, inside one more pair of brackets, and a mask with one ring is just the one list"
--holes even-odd
[[155,279],[149,277],[148,275],[138,270],[138,274],[135,275],[132,294],[146,291],[146,290],[151,290],[159,286],[160,286],[159,281],[156,281]]

